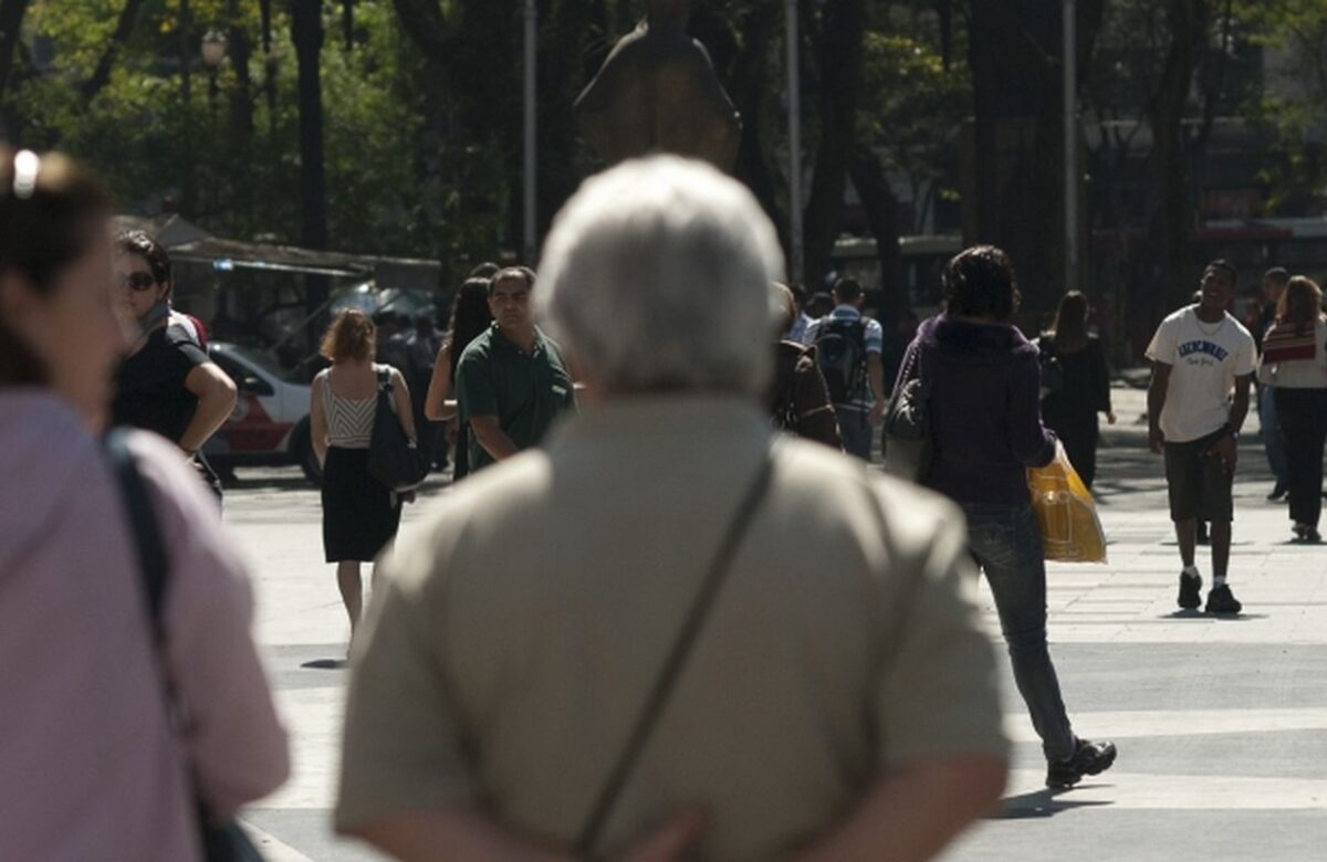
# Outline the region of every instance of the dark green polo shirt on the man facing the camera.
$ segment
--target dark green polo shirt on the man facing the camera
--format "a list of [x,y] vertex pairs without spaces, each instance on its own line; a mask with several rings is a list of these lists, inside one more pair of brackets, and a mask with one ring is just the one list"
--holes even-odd
[[[537,446],[564,410],[576,408],[572,375],[557,345],[535,330],[535,347],[525,353],[498,324],[470,342],[456,365],[456,412],[460,422],[498,416],[498,424],[516,448]],[[494,463],[492,455],[470,440],[470,469]]]

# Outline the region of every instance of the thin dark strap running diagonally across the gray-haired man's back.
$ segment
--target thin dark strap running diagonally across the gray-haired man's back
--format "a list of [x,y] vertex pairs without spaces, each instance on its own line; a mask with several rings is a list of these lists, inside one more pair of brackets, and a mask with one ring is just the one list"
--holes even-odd
[[678,678],[686,668],[691,647],[695,645],[697,637],[709,618],[719,589],[733,569],[733,561],[742,545],[742,538],[751,526],[751,521],[760,508],[760,501],[770,489],[772,476],[774,452],[771,451],[766,454],[760,464],[760,472],[756,473],[746,496],[742,497],[742,503],[738,505],[736,513],[733,516],[733,521],[729,524],[729,529],[719,542],[710,568],[701,581],[701,587],[691,599],[691,606],[677,634],[677,639],[673,642],[673,648],[669,650],[664,667],[660,670],[654,686],[650,688],[649,696],[645,699],[645,704],[632,727],[630,736],[628,736],[626,744],[613,764],[613,769],[608,773],[608,780],[604,782],[589,817],[585,818],[580,837],[576,839],[577,855],[592,858],[594,845],[598,842],[598,837],[608,824],[613,808],[617,805],[622,788],[626,785],[626,780],[630,777],[645,747],[649,744],[650,736],[664,713],[664,708],[667,706],[669,696],[673,694]]

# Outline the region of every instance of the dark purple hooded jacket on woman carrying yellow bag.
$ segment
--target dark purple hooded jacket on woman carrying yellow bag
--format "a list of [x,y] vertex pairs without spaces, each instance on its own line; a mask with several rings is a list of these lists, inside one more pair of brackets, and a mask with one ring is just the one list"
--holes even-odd
[[896,390],[918,370],[932,382],[936,442],[925,484],[961,504],[1026,505],[1027,468],[1055,458],[1036,347],[1009,324],[940,314],[918,328]]

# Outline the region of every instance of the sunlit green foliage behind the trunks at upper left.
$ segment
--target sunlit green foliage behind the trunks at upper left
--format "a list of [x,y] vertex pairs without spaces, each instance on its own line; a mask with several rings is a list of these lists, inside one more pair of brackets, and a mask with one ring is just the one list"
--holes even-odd
[[[192,0],[182,21],[178,0],[145,3],[110,82],[90,102],[80,93],[123,3],[38,0],[28,40],[49,44],[52,62],[11,88],[7,113],[25,146],[60,147],[97,170],[121,208],[153,214],[174,202],[186,217],[222,235],[299,239],[299,115],[296,62],[285,4],[273,4],[275,111],[264,84],[257,4]],[[456,4],[451,4],[456,5]],[[340,4],[325,8],[324,142],[329,233],[337,248],[429,257],[488,257],[496,214],[464,208],[451,180],[491,184],[500,170],[487,149],[443,141],[454,110],[390,0],[358,0],[356,40],[341,40]],[[248,88],[230,52],[215,95],[199,54],[208,29],[239,33],[249,45]],[[234,28],[234,29],[232,29]],[[182,54],[190,66],[188,98]],[[252,127],[236,119],[247,105]],[[462,217],[464,216],[464,217]]]

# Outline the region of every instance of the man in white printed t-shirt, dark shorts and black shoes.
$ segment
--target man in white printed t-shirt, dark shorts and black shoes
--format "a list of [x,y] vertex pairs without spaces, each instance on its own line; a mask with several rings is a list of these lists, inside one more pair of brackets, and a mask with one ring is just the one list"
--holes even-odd
[[1226,313],[1237,272],[1214,260],[1202,272],[1200,301],[1170,314],[1148,346],[1149,443],[1165,455],[1170,520],[1180,544],[1180,607],[1201,603],[1194,565],[1197,521],[1212,524],[1209,614],[1238,614],[1242,605],[1226,584],[1230,564],[1231,484],[1239,428],[1249,412],[1255,347],[1253,336]]

